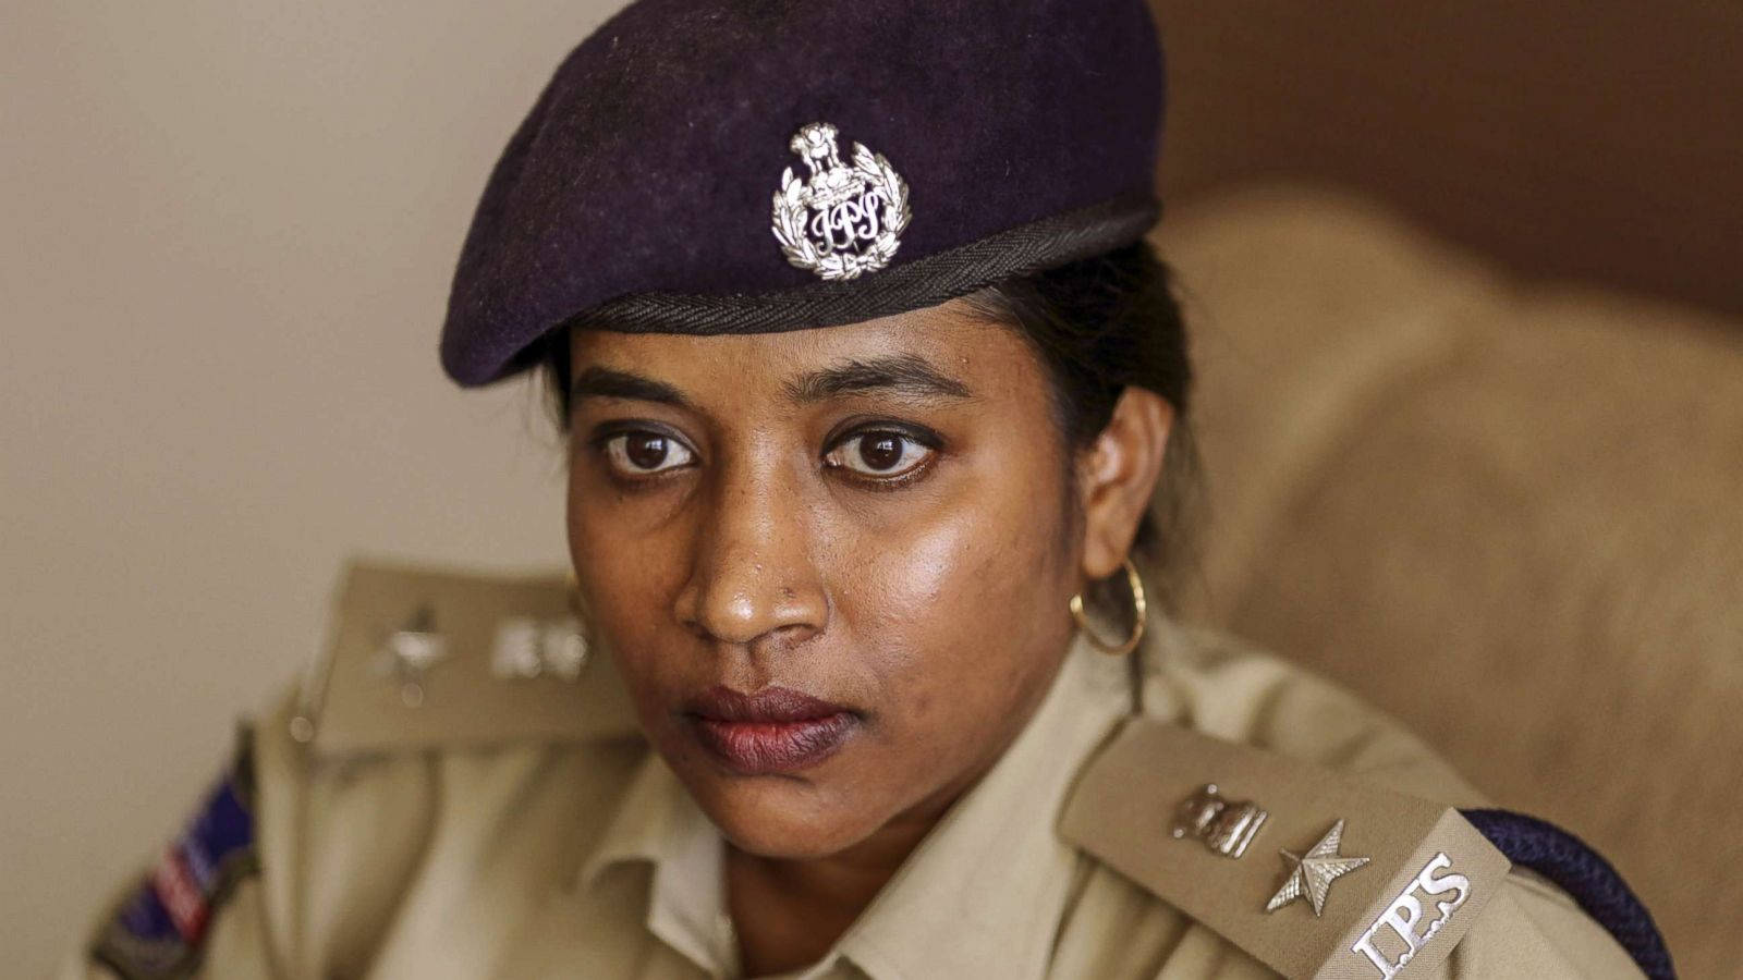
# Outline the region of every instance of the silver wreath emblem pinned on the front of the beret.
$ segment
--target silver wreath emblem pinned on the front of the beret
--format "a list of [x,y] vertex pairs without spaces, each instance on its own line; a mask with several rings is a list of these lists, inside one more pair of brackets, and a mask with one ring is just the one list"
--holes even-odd
[[908,185],[884,153],[854,143],[854,162],[844,164],[835,134],[828,122],[793,134],[788,146],[810,167],[810,178],[798,180],[793,167],[781,174],[774,237],[790,263],[844,281],[889,265],[913,213]]

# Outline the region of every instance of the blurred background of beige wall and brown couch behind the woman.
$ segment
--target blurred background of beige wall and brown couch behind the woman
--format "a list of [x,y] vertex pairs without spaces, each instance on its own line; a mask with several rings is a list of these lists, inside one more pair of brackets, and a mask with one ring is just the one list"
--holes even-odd
[[[610,0],[12,0],[0,950],[42,975],[319,649],[347,555],[563,563],[436,366],[485,174]],[[1743,7],[1157,5],[1203,370],[1178,605],[1743,956]]]

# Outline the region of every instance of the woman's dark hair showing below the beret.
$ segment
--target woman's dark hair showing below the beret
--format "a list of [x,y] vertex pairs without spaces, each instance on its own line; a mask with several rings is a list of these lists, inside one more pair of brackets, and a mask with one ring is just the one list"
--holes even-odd
[[[1053,415],[1065,445],[1095,441],[1129,387],[1163,396],[1175,410],[1161,488],[1133,544],[1152,572],[1190,563],[1187,516],[1197,493],[1192,439],[1192,363],[1173,277],[1149,242],[1122,246],[1044,272],[1014,276],[967,296],[976,312],[1021,330],[1051,375]],[[542,373],[558,425],[568,425],[568,331],[546,340]],[[1164,588],[1171,575],[1163,575]],[[1124,586],[1119,586],[1124,588]],[[1168,605],[1168,596],[1161,596]]]

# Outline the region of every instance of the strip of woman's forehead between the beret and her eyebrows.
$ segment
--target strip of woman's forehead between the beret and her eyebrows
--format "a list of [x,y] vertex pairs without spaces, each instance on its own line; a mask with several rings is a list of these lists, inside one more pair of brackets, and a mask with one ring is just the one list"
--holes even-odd
[[1023,335],[964,300],[814,330],[720,337],[577,330],[570,340],[577,377],[605,368],[699,396],[793,391],[814,371],[892,357],[924,361],[974,398],[1030,396],[1042,384],[1041,361]]

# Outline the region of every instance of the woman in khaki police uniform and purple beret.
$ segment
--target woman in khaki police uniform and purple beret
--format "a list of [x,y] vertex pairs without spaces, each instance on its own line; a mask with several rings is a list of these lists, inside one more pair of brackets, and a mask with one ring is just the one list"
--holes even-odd
[[610,661],[565,589],[354,574],[317,698],[70,973],[1668,971],[1391,722],[1147,612],[1190,478],[1159,119],[1138,0],[605,24],[492,174],[443,363],[551,378]]

